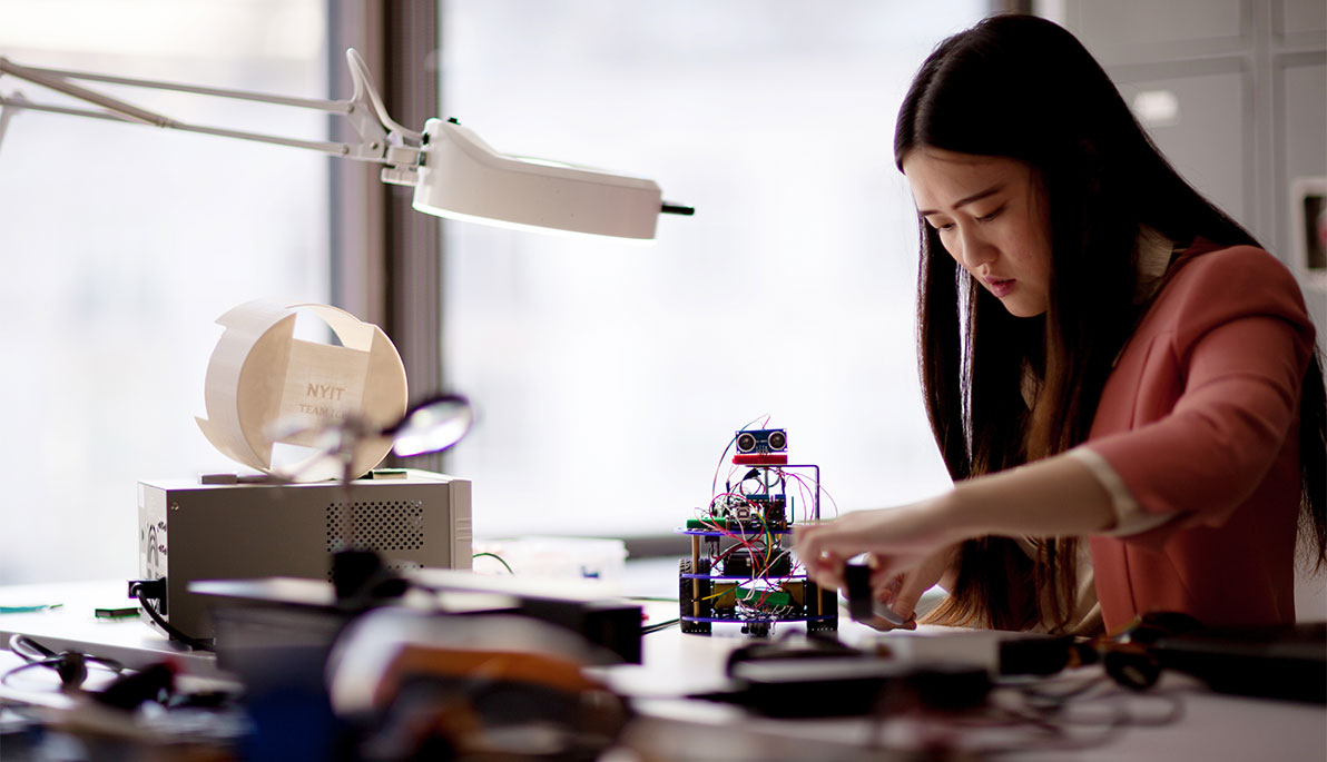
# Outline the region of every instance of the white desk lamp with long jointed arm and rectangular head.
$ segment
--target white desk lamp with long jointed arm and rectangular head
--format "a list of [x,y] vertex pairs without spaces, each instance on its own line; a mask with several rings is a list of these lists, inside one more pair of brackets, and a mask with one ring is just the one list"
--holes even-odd
[[[422,133],[403,127],[387,115],[364,58],[353,48],[345,52],[345,57],[353,93],[344,101],[38,69],[0,57],[0,76],[9,74],[105,109],[72,109],[36,103],[19,93],[0,94],[0,139],[9,117],[5,107],[9,107],[292,146],[382,164],[382,182],[414,187],[414,208],[421,212],[518,229],[649,241],[654,239],[660,213],[694,213],[690,207],[665,203],[653,180],[499,154],[455,119],[427,119]],[[76,85],[72,80],[328,111],[349,121],[360,139],[354,143],[301,140],[190,125]]]

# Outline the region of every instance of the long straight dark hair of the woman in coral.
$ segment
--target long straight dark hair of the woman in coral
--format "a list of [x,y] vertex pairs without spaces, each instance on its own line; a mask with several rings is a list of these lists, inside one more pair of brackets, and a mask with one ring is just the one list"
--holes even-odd
[[[936,48],[898,110],[900,170],[918,146],[1026,162],[1050,204],[1050,303],[1039,318],[1010,315],[918,221],[922,391],[955,481],[1087,439],[1111,366],[1139,317],[1144,225],[1181,245],[1200,236],[1258,245],[1170,167],[1083,45],[1043,19],[993,16]],[[1043,379],[1035,412],[1022,396],[1028,367]],[[1327,558],[1327,411],[1316,354],[1300,412],[1302,531],[1315,541],[1320,567]],[[1067,627],[1076,541],[1035,545],[1030,557],[1007,538],[966,542],[955,588],[932,620]]]

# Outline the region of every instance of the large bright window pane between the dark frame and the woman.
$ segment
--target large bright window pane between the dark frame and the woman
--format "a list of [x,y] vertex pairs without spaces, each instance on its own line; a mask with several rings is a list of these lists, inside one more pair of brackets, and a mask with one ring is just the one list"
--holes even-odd
[[949,484],[893,122],[930,48],[985,9],[443,4],[445,117],[697,208],[648,248],[447,225],[445,372],[479,409],[449,468],[475,482],[478,534],[667,533],[766,415],[839,510]]

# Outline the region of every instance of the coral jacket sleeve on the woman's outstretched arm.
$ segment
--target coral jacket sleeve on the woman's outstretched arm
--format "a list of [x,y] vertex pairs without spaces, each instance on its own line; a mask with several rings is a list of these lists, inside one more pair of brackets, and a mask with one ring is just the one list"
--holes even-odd
[[1200,257],[1172,286],[1164,298],[1178,299],[1177,318],[1154,335],[1148,362],[1173,368],[1160,375],[1181,387],[1174,406],[1085,447],[1144,512],[1184,514],[1169,526],[1220,526],[1294,429],[1312,327],[1292,276],[1258,249]]

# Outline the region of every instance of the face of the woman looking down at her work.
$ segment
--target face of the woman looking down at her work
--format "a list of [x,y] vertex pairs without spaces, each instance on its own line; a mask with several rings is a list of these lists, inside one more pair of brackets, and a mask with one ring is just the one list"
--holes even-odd
[[1030,318],[1050,303],[1051,224],[1032,167],[921,146],[904,156],[917,213],[949,256],[1010,314]]

